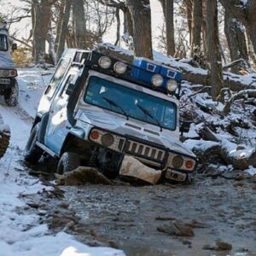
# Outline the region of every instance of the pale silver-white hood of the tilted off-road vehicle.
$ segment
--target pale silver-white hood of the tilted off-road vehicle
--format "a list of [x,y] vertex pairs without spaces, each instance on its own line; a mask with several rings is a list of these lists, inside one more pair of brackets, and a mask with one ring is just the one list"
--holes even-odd
[[166,131],[165,129],[160,131],[160,127],[156,125],[150,125],[132,118],[127,120],[123,115],[112,114],[101,108],[80,109],[77,113],[77,119],[122,136],[137,137],[144,140],[146,144],[147,142],[155,143],[177,153],[195,157],[195,154],[185,148],[183,143],[178,140],[177,131]]

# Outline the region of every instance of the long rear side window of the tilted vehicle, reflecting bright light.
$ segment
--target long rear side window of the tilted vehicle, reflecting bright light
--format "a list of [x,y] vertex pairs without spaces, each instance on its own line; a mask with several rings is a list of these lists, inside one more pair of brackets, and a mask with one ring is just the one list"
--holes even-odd
[[49,97],[52,97],[54,95],[57,85],[60,84],[61,79],[63,78],[66,72],[68,63],[69,63],[69,60],[61,60],[61,62],[59,63],[58,67],[55,70],[54,76],[50,80],[49,85],[44,92],[44,95],[47,95]]

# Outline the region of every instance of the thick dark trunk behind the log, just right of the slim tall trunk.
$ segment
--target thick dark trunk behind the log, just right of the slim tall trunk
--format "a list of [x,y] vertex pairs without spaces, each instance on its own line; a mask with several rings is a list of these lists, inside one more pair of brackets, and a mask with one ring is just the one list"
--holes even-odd
[[[248,61],[247,42],[242,24],[227,9],[224,16],[224,32],[229,44],[231,61]],[[231,70],[238,73],[241,67],[235,66]]]

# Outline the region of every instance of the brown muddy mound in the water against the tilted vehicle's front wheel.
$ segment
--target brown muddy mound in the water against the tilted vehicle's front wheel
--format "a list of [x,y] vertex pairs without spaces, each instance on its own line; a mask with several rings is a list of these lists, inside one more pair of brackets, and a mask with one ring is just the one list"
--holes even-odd
[[112,185],[111,181],[98,172],[96,168],[79,166],[73,172],[67,172],[64,175],[56,175],[60,185],[81,186],[86,183]]

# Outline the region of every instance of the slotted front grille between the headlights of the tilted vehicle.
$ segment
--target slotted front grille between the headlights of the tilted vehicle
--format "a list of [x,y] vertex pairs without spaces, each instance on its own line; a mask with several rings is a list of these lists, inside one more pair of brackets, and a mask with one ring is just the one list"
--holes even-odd
[[137,143],[131,140],[128,140],[126,143],[125,153],[158,162],[163,162],[165,159],[165,150],[153,148],[143,143]]

